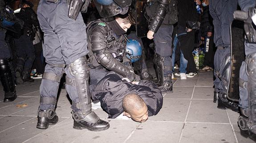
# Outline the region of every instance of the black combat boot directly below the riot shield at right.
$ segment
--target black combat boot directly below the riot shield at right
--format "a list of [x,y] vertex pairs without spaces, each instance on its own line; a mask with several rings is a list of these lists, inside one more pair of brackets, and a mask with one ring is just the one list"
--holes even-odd
[[232,111],[239,112],[238,103],[229,101],[226,93],[219,93],[217,108],[230,109]]

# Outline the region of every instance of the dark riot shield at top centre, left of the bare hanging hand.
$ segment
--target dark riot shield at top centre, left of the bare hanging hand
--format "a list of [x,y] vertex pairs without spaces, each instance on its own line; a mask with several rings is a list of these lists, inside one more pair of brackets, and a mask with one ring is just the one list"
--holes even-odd
[[146,0],[136,0],[136,35],[138,38],[146,37],[148,32],[148,20],[144,8]]

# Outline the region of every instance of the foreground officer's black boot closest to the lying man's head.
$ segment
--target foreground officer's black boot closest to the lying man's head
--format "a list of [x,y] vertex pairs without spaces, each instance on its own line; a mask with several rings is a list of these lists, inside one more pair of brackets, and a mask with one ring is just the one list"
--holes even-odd
[[[82,117],[81,112],[72,112],[74,125],[73,128],[77,130],[88,129],[89,131],[103,131],[110,128],[110,124],[106,121],[100,120],[99,117],[91,112],[87,116]],[[95,118],[97,117],[97,118]],[[89,123],[85,120],[97,119],[93,123]]]

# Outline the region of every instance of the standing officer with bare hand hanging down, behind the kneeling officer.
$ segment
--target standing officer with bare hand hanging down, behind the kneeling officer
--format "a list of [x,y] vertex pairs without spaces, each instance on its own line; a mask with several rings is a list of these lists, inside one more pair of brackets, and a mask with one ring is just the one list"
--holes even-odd
[[171,45],[173,24],[177,22],[177,0],[150,0],[146,7],[150,17],[147,38],[155,44],[154,64],[158,78],[158,88],[162,92],[172,92]]

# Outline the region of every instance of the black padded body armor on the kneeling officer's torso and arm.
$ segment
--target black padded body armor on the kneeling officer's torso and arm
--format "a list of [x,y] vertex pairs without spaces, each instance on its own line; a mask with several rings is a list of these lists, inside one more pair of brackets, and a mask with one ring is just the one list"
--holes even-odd
[[132,68],[122,64],[122,62],[128,61],[125,56],[126,35],[115,35],[110,25],[101,20],[89,23],[87,33],[90,68],[102,69],[104,67],[123,77],[131,76],[133,79],[129,79],[134,80]]

